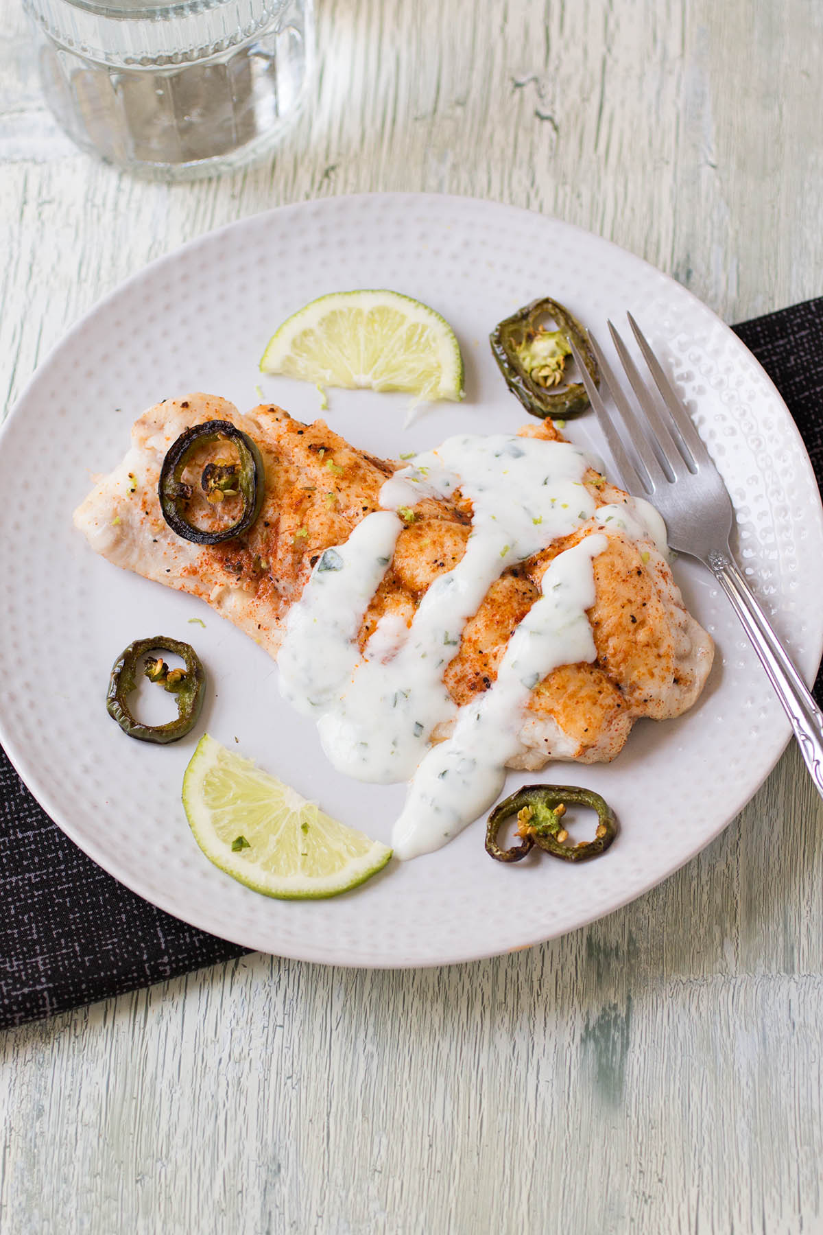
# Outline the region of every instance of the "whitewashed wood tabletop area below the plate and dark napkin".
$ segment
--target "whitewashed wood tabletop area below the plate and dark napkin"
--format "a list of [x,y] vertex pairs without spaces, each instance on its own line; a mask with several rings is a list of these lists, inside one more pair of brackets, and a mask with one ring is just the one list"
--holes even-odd
[[528,952],[417,973],[252,957],[10,1034],[14,1229],[65,1230],[78,1189],[79,1230],[800,1230],[821,956],[809,931],[811,972],[786,965],[786,906],[821,911],[817,804],[793,878],[734,898],[800,771],[666,885]]

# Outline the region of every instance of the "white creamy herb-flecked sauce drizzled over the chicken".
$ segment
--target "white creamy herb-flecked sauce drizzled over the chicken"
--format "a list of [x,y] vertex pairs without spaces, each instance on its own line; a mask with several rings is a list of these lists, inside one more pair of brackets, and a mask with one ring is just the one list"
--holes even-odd
[[[326,550],[289,613],[278,657],[280,689],[315,716],[333,766],[362,781],[412,779],[395,829],[399,857],[439,847],[494,802],[506,761],[521,750],[517,735],[531,689],[556,666],[595,658],[586,609],[595,599],[591,561],[606,547],[603,535],[587,536],[552,562],[542,598],[515,631],[481,699],[458,709],[443,683],[463,627],[495,579],[595,515],[582,484],[587,466],[566,442],[450,437],[386,480],[380,503],[387,509],[368,515],[344,545]],[[358,631],[402,529],[394,511],[426,495],[448,498],[457,488],[473,505],[464,557],[434,579],[411,627],[399,615],[384,615],[360,655]],[[648,535],[642,511],[600,508],[598,521],[602,511],[619,519],[628,535]],[[453,736],[429,750],[434,729],[455,718]]]

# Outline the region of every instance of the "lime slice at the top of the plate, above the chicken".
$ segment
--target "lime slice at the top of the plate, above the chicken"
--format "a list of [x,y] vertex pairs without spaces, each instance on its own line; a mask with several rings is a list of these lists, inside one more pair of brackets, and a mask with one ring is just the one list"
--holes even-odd
[[260,368],[316,385],[461,399],[463,358],[439,312],[399,291],[333,291],[292,314]]

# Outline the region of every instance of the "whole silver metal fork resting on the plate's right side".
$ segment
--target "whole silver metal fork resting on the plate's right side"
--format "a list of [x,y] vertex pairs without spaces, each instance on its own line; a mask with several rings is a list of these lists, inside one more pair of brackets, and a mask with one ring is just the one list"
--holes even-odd
[[[651,396],[626,343],[610,321],[617,354],[643,411],[642,420],[616,380],[602,348],[590,335],[602,380],[622,422],[622,435],[571,345],[591,405],[621,472],[623,488],[651,501],[666,522],[670,546],[707,566],[726,592],[777,692],[818,793],[823,795],[823,714],[732,556],[729,534],[734,513],[728,489],[660,362],[632,315],[627,316],[663,404]],[[634,459],[624,446],[624,438],[632,443]]]

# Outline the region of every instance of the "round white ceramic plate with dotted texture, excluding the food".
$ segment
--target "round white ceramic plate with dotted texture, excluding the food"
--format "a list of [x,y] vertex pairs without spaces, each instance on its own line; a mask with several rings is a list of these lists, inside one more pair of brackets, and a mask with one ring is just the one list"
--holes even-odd
[[[580,868],[492,862],[476,821],[452,845],[394,861],[333,900],[269,900],[212,867],[180,804],[183,772],[207,729],[344,823],[387,841],[403,787],[359,784],[326,762],[313,726],[280,701],[276,667],[200,601],[96,557],[72,527],[91,483],[123,454],[132,420],[159,399],[206,390],[241,410],[265,398],[315,419],[317,391],[260,378],[284,317],[326,291],[387,287],[438,309],[466,366],[466,401],[403,430],[407,400],[331,391],[329,424],[397,456],[458,430],[528,419],[503,385],[487,335],[539,295],[605,336],[631,309],[666,356],[738,514],[739,557],[811,677],[823,642],[823,517],[795,425],[743,343],[671,279],[568,224],[460,198],[366,195],[285,206],[186,245],[120,287],[41,366],[0,442],[0,737],[60,827],[134,892],[253,948],[357,966],[442,965],[539,942],[616,909],[665,878],[734,818],[786,745],[788,726],[713,580],[680,559],[686,603],[714,636],[707,688],[677,721],[640,721],[617,762],[549,767],[616,809],[622,831]],[[600,451],[591,416],[569,435]],[[202,619],[205,630],[190,625]],[[170,747],[130,741],[104,698],[133,638],[192,642],[210,690],[202,721]],[[529,781],[539,779],[534,774]],[[524,776],[512,774],[511,793]]]

